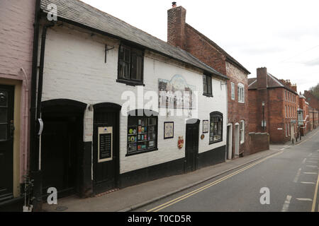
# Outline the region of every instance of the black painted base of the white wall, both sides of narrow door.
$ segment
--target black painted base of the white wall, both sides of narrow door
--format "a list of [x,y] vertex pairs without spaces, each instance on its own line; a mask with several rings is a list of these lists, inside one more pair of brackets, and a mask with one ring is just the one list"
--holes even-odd
[[[226,160],[226,146],[198,154],[198,169],[216,165]],[[163,177],[185,173],[185,158],[120,174],[119,188],[150,182]]]

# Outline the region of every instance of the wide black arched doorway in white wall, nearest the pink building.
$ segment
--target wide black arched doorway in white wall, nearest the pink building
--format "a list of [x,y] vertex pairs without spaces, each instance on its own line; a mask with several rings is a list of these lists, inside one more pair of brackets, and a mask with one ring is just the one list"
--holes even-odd
[[43,194],[55,187],[58,198],[79,192],[80,152],[86,104],[75,100],[42,103],[41,171]]

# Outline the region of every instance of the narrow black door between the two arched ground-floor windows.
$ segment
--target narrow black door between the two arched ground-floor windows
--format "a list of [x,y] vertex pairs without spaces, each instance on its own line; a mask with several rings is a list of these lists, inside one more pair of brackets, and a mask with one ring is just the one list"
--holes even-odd
[[194,124],[186,124],[186,172],[192,172],[198,165],[198,140],[199,140],[199,121]]

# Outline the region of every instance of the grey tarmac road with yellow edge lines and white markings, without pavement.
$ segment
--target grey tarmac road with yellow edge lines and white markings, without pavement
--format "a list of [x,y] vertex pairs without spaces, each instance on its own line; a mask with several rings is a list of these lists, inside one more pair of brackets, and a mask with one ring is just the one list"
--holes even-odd
[[[227,175],[135,211],[318,211],[319,133]],[[260,202],[269,189],[269,204]],[[315,191],[317,190],[317,191]]]

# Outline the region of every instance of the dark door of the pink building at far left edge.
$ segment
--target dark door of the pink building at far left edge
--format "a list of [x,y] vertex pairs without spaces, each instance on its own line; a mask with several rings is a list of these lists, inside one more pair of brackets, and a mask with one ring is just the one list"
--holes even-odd
[[0,201],[13,197],[14,86],[0,85]]

